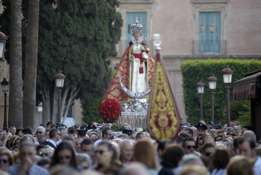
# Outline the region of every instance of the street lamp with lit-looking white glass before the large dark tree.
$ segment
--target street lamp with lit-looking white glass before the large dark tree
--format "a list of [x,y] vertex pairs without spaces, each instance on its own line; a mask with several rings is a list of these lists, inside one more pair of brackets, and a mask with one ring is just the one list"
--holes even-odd
[[58,90],[58,123],[61,123],[61,95],[62,95],[62,88],[64,84],[64,78],[65,75],[62,74],[62,71],[58,71],[58,73],[55,75],[55,84],[56,87],[59,88]]

